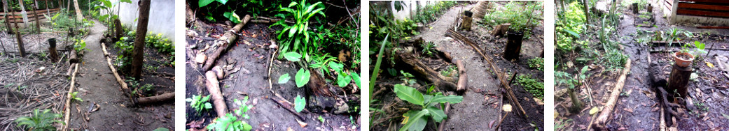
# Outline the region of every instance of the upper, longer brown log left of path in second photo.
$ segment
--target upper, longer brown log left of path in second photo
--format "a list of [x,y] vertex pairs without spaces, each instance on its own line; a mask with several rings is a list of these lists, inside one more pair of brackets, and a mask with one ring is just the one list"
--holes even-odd
[[246,17],[243,17],[243,20],[238,23],[238,25],[235,25],[233,29],[227,30],[225,34],[220,37],[223,41],[217,41],[222,42],[222,46],[218,47],[215,51],[213,51],[212,54],[208,55],[208,61],[205,62],[205,67],[203,69],[210,70],[212,67],[214,67],[215,61],[217,61],[218,57],[223,53],[223,51],[227,51],[228,48],[233,46],[233,43],[235,43],[235,39],[238,38],[238,30],[241,30],[244,25],[248,21],[251,20],[251,15],[246,14]]

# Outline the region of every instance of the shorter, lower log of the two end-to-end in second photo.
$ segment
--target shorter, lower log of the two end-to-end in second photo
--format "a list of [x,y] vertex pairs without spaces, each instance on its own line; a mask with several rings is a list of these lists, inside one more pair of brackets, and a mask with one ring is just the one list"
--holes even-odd
[[205,87],[208,88],[210,99],[213,101],[213,105],[215,105],[215,112],[218,114],[218,117],[225,116],[227,106],[225,105],[223,93],[220,91],[220,83],[218,83],[217,75],[215,75],[215,72],[208,71],[205,73],[205,78],[207,80]]

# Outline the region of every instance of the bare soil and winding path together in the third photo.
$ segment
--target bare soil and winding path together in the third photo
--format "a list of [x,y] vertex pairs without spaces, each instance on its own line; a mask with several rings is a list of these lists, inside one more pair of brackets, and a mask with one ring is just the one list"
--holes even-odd
[[[505,3],[501,3],[505,4]],[[470,9],[475,4],[469,4],[464,9]],[[453,56],[453,60],[461,59],[466,67],[468,75],[468,89],[464,93],[464,101],[451,105],[451,111],[448,113],[448,120],[445,123],[445,130],[495,130],[496,123],[503,116],[501,110],[502,103],[509,103],[507,99],[503,99],[499,93],[499,84],[496,75],[492,75],[491,69],[483,60],[483,57],[476,53],[471,46],[460,41],[453,40],[453,38],[445,35],[448,27],[451,27],[453,21],[456,20],[457,14],[461,11],[461,6],[452,7],[448,12],[445,12],[436,22],[430,23],[429,27],[425,27],[424,30],[420,30],[421,34],[413,36],[413,38],[423,38],[426,42],[434,42],[437,48],[442,48],[442,51],[448,52]],[[543,23],[543,22],[542,22]],[[536,78],[540,82],[543,82],[544,73],[537,69],[530,69],[526,61],[535,57],[542,57],[543,52],[543,25],[538,25],[533,30],[533,34],[530,39],[524,40],[520,59],[515,62],[509,62],[502,59],[501,54],[503,52],[506,38],[495,38],[491,36],[490,30],[474,23],[472,31],[459,31],[467,38],[471,39],[477,46],[483,51],[486,48],[486,54],[491,55],[494,58],[494,64],[497,67],[506,70],[507,72],[519,72],[520,74],[531,74],[533,78]],[[383,59],[385,60],[385,59]],[[426,62],[429,60],[421,60]],[[426,62],[427,63],[427,62]],[[446,63],[448,64],[448,63]],[[438,64],[436,64],[438,65]],[[454,64],[453,64],[454,66]],[[436,71],[442,71],[445,66],[431,66]],[[386,67],[382,67],[385,69]],[[402,83],[397,77],[388,77],[387,73],[383,71],[381,73],[382,78],[378,78],[378,85],[387,85],[387,83],[397,84]],[[420,82],[423,83],[423,82]],[[425,85],[425,84],[421,84]],[[544,106],[541,100],[535,101],[531,93],[526,92],[521,85],[511,85],[514,89],[516,97],[519,98],[523,109],[526,110],[529,118],[518,117],[514,112],[509,114],[504,122],[502,123],[502,130],[544,130],[543,128],[543,114]],[[387,86],[380,86],[378,88],[387,88]],[[416,86],[415,88],[418,88]],[[421,92],[424,92],[427,88],[418,88]],[[375,89],[376,90],[376,89]],[[391,89],[389,89],[391,90]],[[444,89],[441,89],[444,90]],[[391,104],[402,104],[406,103],[403,101],[395,100],[394,93],[386,92],[383,95],[375,94],[375,99],[380,99],[382,102],[380,105],[391,105]],[[379,95],[379,96],[378,96]],[[379,97],[379,98],[378,98]],[[394,100],[394,101],[391,101]],[[377,105],[376,105],[377,106]],[[375,118],[377,117],[375,116]],[[375,126],[372,129],[385,130],[388,128],[387,124],[395,123],[395,125],[401,122],[402,118],[391,120],[391,123],[385,123],[384,126]],[[534,124],[537,127],[533,127]],[[429,122],[426,126],[426,130],[436,130],[437,125],[433,122]]]

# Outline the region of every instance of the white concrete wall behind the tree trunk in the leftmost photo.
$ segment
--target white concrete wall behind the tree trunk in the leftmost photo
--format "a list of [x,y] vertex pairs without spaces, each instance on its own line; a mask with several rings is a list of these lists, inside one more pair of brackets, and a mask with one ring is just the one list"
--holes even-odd
[[[114,1],[114,0],[112,0]],[[114,1],[115,2],[115,1]],[[183,1],[181,1],[183,2]],[[130,29],[136,29],[136,19],[139,16],[139,0],[132,0],[131,4],[122,3],[119,9],[119,20],[122,25]],[[165,38],[174,42],[175,35],[175,1],[174,0],[152,0],[149,6],[149,22],[147,33],[162,33]]]

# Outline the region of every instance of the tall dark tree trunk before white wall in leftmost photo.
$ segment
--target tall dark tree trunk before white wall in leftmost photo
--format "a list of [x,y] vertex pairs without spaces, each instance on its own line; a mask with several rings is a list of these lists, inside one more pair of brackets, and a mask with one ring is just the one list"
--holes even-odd
[[147,22],[149,22],[149,0],[139,2],[139,22],[137,23],[134,51],[132,53],[132,77],[141,78],[142,63],[144,63],[144,35],[147,35]]

